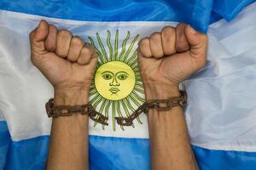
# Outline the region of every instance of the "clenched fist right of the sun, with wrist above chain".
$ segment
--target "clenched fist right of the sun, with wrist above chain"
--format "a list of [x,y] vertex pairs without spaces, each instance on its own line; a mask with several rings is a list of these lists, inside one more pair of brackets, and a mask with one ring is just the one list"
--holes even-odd
[[192,27],[166,26],[138,44],[138,65],[146,99],[179,95],[178,84],[205,67],[207,36]]

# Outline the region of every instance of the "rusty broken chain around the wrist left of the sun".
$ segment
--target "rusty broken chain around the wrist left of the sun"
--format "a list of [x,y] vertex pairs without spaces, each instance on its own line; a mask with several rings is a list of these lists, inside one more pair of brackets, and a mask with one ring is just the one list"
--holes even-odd
[[95,122],[108,125],[108,117],[95,111],[90,104],[86,105],[54,105],[54,99],[49,99],[45,104],[46,112],[49,117],[71,116],[73,114],[88,115]]

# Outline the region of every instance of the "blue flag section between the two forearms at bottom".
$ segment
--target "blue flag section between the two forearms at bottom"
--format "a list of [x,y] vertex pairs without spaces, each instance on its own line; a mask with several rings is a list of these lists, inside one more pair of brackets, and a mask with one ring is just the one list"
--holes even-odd
[[90,136],[90,170],[150,169],[149,140]]

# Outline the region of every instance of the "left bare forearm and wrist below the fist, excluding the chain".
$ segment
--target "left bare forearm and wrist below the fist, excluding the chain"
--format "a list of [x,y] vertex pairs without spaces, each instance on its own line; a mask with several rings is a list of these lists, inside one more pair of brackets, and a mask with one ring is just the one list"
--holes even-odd
[[[55,92],[55,105],[84,105],[88,95],[82,91]],[[88,116],[74,114],[53,118],[47,169],[89,169]]]

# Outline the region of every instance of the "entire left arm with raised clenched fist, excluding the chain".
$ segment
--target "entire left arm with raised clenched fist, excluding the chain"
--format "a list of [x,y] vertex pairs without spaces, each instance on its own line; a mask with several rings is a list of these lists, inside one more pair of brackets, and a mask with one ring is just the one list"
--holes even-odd
[[[67,30],[41,20],[30,34],[32,63],[55,89],[55,105],[85,105],[97,55],[95,49]],[[88,116],[53,119],[46,169],[89,169]]]

